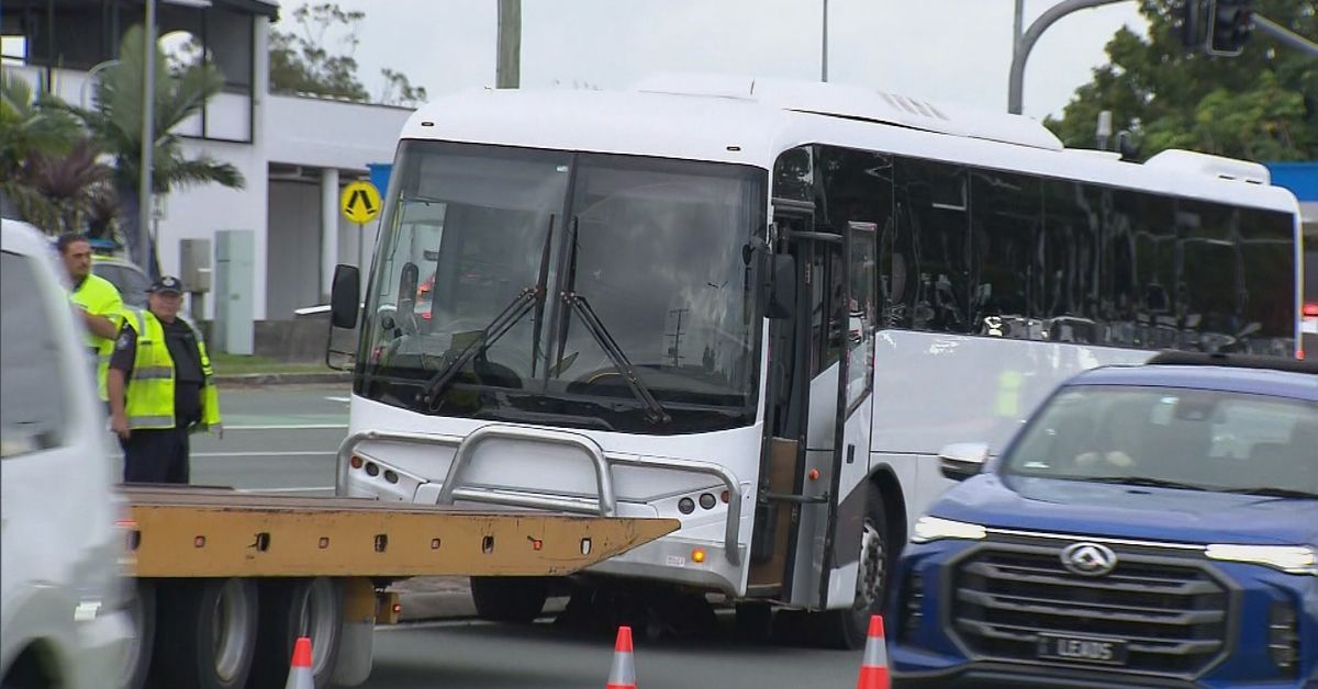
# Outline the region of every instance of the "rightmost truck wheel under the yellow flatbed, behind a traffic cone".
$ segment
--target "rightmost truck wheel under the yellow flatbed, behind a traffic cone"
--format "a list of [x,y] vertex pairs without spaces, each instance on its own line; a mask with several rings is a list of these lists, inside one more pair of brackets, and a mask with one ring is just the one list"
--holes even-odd
[[311,638],[311,675],[330,685],[343,628],[343,586],[330,577],[261,582],[261,615],[248,689],[283,689],[298,636]]

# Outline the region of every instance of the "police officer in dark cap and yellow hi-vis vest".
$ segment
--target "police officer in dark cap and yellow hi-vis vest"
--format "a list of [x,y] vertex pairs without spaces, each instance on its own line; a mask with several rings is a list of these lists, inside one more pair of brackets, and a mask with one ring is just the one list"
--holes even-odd
[[127,315],[109,360],[111,428],[125,483],[187,483],[187,436],[219,429],[220,398],[202,337],[178,317],[179,279],[165,275],[148,292],[149,310]]

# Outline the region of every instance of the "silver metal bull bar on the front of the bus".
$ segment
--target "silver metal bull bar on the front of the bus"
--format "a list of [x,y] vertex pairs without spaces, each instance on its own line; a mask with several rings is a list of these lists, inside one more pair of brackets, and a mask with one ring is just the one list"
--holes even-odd
[[[539,495],[514,495],[494,490],[471,489],[461,487],[460,478],[463,469],[471,462],[474,455],[474,448],[481,443],[492,439],[505,439],[505,440],[532,440],[532,441],[550,441],[565,447],[575,447],[587,452],[590,457],[592,465],[596,470],[596,486],[600,493],[598,502],[592,507],[587,501],[572,499],[572,498],[551,498]],[[728,560],[733,565],[741,565],[741,549],[738,547],[738,539],[741,537],[741,505],[742,493],[741,486],[737,483],[737,477],[733,476],[726,468],[712,462],[704,462],[697,460],[675,460],[675,458],[634,458],[622,457],[617,455],[605,455],[600,445],[583,435],[569,433],[564,431],[554,431],[548,428],[527,428],[519,426],[482,426],[476,431],[472,431],[464,439],[455,439],[451,436],[432,436],[423,433],[403,433],[391,431],[358,431],[348,436],[343,444],[339,447],[337,458],[337,486],[341,493],[347,486],[347,466],[348,460],[352,457],[353,451],[357,445],[368,440],[381,440],[386,443],[415,443],[423,445],[448,445],[456,447],[457,451],[453,453],[453,461],[448,466],[448,474],[444,477],[444,483],[440,486],[439,497],[436,498],[436,505],[452,505],[455,499],[465,499],[472,502],[488,502],[498,505],[511,505],[519,507],[539,507],[547,510],[560,510],[567,512],[583,512],[583,514],[598,514],[601,516],[616,516],[618,509],[618,501],[613,490],[613,470],[617,466],[637,466],[645,469],[672,469],[677,472],[709,474],[718,478],[724,487],[728,489],[728,519],[724,526],[724,549],[728,555]]]

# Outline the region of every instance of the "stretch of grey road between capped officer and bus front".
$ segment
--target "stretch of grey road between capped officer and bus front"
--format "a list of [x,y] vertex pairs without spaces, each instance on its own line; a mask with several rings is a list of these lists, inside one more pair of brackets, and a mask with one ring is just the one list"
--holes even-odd
[[192,483],[332,495],[347,385],[220,390],[224,437],[192,436]]

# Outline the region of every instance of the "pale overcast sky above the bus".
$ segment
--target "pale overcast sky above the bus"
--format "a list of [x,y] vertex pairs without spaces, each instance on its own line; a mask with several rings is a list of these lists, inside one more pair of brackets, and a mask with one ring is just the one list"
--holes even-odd
[[[322,0],[315,0],[322,1]],[[1060,0],[1027,0],[1025,26]],[[654,72],[820,79],[824,0],[522,0],[522,87],[627,88]],[[290,29],[302,0],[279,0]],[[373,97],[384,67],[428,96],[493,86],[497,0],[337,0],[365,12],[355,57]],[[1024,113],[1061,115],[1106,63],[1126,1],[1049,28],[1025,70]],[[1014,0],[828,0],[829,80],[1006,111]],[[339,36],[327,36],[335,50]]]

